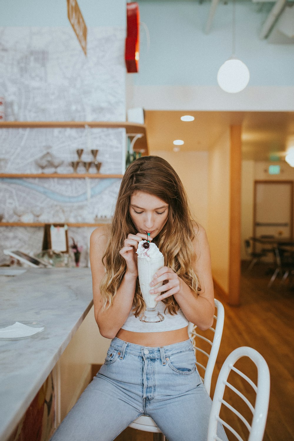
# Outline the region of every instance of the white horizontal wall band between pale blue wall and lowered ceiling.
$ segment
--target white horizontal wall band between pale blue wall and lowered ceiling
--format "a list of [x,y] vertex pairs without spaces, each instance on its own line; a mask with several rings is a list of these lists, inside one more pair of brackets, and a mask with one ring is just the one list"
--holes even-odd
[[[137,74],[131,74],[137,75]],[[127,108],[146,110],[293,111],[293,86],[247,86],[227,93],[219,86],[137,86],[127,76]]]

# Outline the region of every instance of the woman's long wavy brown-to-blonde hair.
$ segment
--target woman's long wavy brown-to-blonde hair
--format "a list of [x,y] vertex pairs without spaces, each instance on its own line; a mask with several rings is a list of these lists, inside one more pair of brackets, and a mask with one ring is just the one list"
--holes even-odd
[[[109,308],[126,272],[126,261],[119,254],[128,234],[137,234],[130,217],[130,197],[137,191],[149,193],[168,204],[164,228],[154,242],[164,255],[164,265],[170,267],[197,295],[198,278],[194,273],[196,259],[192,241],[195,237],[193,219],[186,191],[171,165],[158,156],[136,159],[127,168],[119,189],[108,244],[102,258],[106,269],[100,283],[103,309]],[[176,314],[179,305],[174,296],[163,300],[170,314]],[[138,317],[145,310],[137,278],[133,310]]]

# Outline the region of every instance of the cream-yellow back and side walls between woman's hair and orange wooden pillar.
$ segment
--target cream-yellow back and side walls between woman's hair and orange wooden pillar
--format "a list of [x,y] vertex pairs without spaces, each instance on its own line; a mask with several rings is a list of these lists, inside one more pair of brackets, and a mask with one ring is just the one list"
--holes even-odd
[[186,188],[192,213],[207,231],[212,275],[228,292],[230,129],[227,127],[209,152],[151,151],[166,159]]

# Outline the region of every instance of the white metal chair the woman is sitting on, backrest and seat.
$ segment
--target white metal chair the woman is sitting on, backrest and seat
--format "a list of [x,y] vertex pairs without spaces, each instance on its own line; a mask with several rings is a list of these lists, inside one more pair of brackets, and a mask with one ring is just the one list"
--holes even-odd
[[[214,299],[214,303],[216,306],[216,313],[217,315],[214,315],[214,327],[212,325],[210,331],[212,331],[213,338],[210,340],[207,337],[204,337],[202,335],[197,334],[196,328],[193,323],[189,323],[188,325],[188,334],[193,342],[193,348],[195,350],[196,358],[197,358],[197,351],[200,351],[202,354],[207,357],[207,363],[206,366],[202,365],[201,363],[196,362],[197,367],[200,367],[205,371],[204,377],[201,377],[202,381],[204,382],[205,389],[208,392],[208,395],[210,394],[210,386],[211,386],[211,379],[212,379],[212,372],[214,369],[214,366],[216,364],[216,357],[220,349],[220,340],[222,338],[223,334],[223,321],[224,321],[224,309],[223,304],[220,303],[219,300]],[[198,344],[200,343],[198,341],[198,338],[202,341],[205,341],[208,343],[208,345],[211,347],[209,353],[204,351],[203,349],[199,348]],[[199,373],[200,374],[200,373]],[[161,434],[161,440],[165,441],[165,436],[162,434],[161,430],[156,426],[156,423],[153,421],[153,419],[146,415],[141,415],[138,418],[136,418],[133,422],[130,423],[129,427],[132,427],[133,429],[138,430],[144,430],[145,432],[153,432],[153,441],[159,440],[159,436],[157,434]]]

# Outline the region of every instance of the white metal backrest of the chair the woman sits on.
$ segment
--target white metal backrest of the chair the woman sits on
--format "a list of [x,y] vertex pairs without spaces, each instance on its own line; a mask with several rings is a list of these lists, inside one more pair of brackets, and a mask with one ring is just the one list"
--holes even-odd
[[[198,361],[196,361],[196,365],[197,365],[198,370],[200,370],[200,372],[199,372],[200,376],[202,374],[202,370],[205,372],[204,377],[201,376],[201,379],[204,383],[204,386],[205,386],[205,389],[206,389],[208,395],[210,395],[212,373],[213,373],[214,366],[216,364],[216,357],[217,357],[217,354],[219,353],[219,349],[220,349],[220,341],[221,341],[222,335],[223,335],[223,322],[224,322],[223,304],[219,300],[216,300],[216,299],[214,299],[214,304],[216,306],[216,313],[214,315],[214,323],[213,323],[212,327],[209,328],[212,331],[212,334],[210,333],[213,336],[212,339],[209,339],[207,336],[203,336],[203,335],[200,335],[199,333],[197,333],[197,326],[193,325],[193,323],[190,323],[188,326],[188,334],[193,342],[193,347],[195,350],[196,359],[197,359],[197,352],[201,352],[207,358],[206,366],[203,365],[202,363],[199,363]],[[190,327],[190,329],[189,329],[189,327]],[[207,351],[205,351],[203,348],[199,347],[201,344],[201,340],[208,343],[208,348],[209,348],[209,346],[211,347],[209,353]]]

